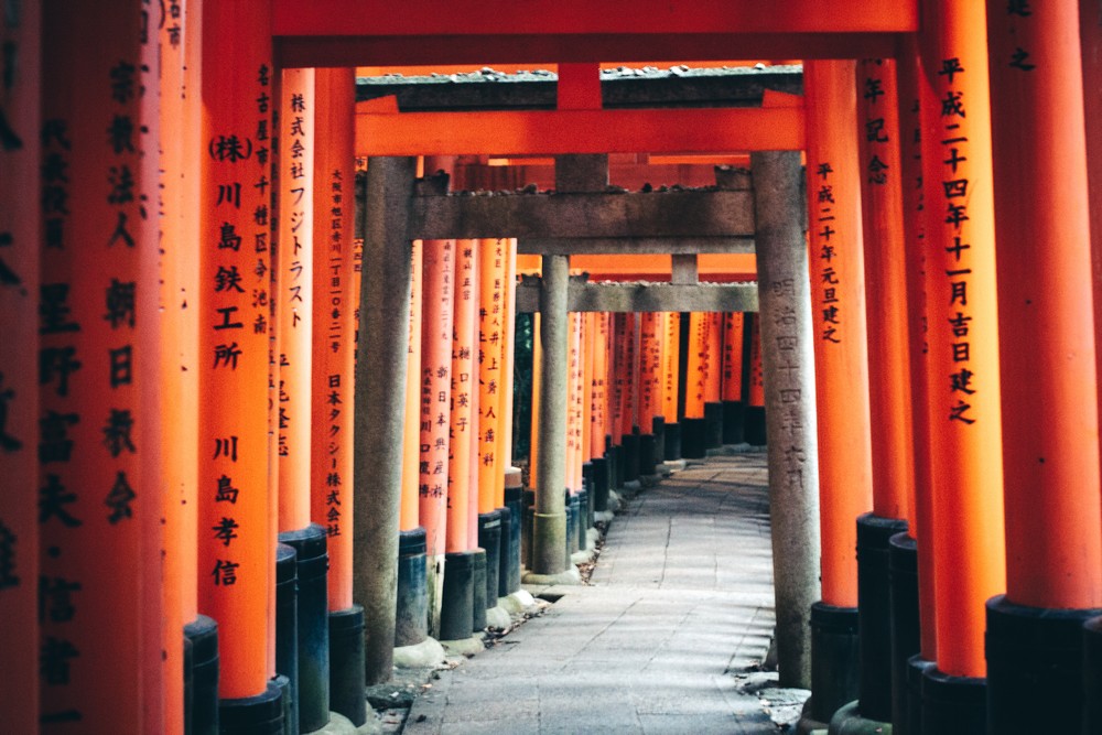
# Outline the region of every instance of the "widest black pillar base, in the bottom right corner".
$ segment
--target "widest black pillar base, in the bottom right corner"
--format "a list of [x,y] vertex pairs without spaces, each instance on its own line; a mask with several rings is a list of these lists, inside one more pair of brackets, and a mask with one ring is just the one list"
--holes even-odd
[[1016,605],[1005,595],[987,601],[992,732],[1083,732],[1083,624],[1098,615],[1102,609]]

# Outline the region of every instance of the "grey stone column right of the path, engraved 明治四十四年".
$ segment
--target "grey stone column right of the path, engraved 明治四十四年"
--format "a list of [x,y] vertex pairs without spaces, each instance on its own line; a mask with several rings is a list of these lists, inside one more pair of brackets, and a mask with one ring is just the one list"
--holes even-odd
[[781,687],[811,688],[819,581],[819,450],[799,151],[750,154]]

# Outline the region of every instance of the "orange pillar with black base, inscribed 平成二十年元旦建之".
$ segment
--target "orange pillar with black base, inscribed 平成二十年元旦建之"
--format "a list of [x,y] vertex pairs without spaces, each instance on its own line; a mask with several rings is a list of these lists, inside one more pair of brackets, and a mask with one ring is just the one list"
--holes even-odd
[[[857,691],[857,516],[873,505],[855,67],[804,66],[822,601],[811,608],[811,716]],[[849,645],[839,641],[850,637]],[[828,640],[835,641],[829,648]]]

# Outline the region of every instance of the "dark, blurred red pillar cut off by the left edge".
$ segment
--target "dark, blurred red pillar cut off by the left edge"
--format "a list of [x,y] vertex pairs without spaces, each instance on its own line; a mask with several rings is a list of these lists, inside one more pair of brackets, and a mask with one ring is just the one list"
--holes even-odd
[[[39,728],[39,376],[30,359],[39,354],[39,275],[43,223],[64,223],[43,198],[50,181],[39,144],[42,104],[42,10],[23,7],[0,14],[0,43],[11,48],[0,87],[0,310],[4,341],[0,350],[0,660],[7,684],[0,690],[4,726],[17,733]],[[10,45],[9,45],[10,44]],[[10,65],[10,66],[9,66]],[[9,75],[10,76],[7,76]],[[56,143],[55,143],[56,145]],[[55,155],[67,153],[57,147]],[[63,172],[61,172],[63,173]],[[56,174],[54,174],[56,175]],[[67,186],[57,204],[67,198]]]

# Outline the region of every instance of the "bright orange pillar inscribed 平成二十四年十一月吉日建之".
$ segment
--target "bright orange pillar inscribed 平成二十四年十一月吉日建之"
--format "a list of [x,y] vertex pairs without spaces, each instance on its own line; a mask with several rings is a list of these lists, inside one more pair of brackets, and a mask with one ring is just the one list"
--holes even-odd
[[[927,672],[927,681],[962,698],[973,692],[974,729],[984,710],[976,681],[986,673],[984,603],[1006,584],[986,13],[981,3],[944,0],[925,11],[920,84],[932,90],[921,109],[930,530],[940,672]],[[936,706],[922,715],[934,725],[942,717]]]

